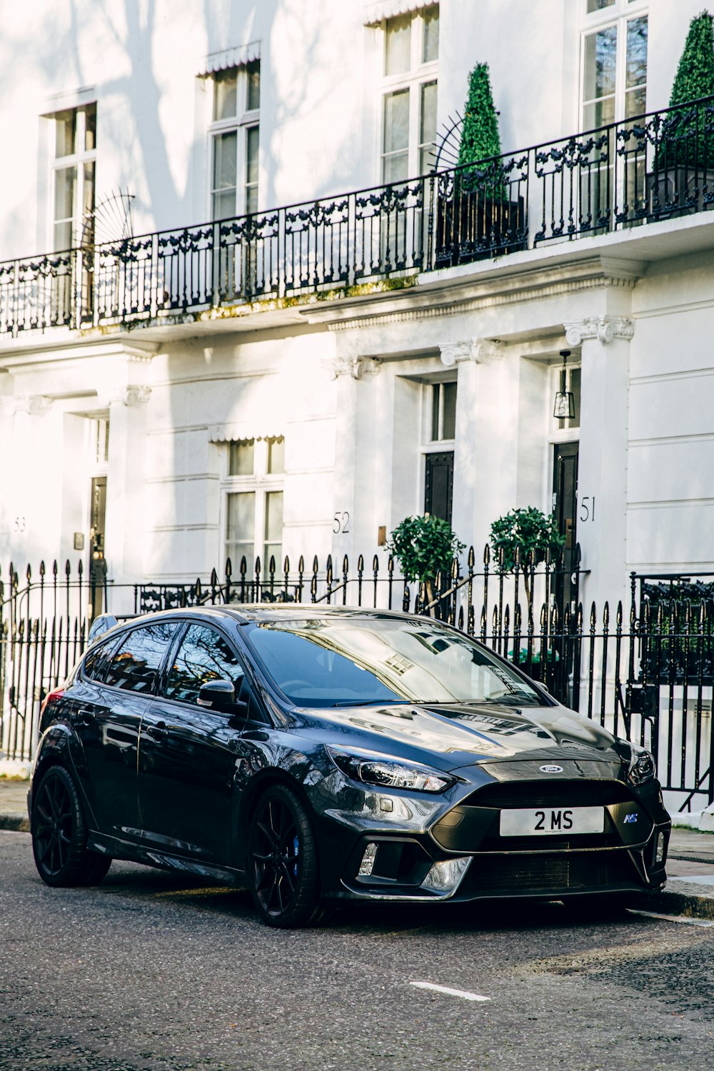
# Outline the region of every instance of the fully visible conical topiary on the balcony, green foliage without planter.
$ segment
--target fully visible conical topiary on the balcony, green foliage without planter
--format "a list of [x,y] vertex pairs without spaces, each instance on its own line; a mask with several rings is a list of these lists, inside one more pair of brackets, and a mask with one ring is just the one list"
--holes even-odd
[[[458,150],[459,164],[482,164],[468,167],[461,172],[465,190],[476,185],[486,186],[493,197],[503,194],[503,172],[501,162],[492,160],[501,155],[498,111],[493,106],[488,63],[476,63],[469,75],[469,95],[466,100],[461,144]],[[490,161],[490,163],[486,163]]]

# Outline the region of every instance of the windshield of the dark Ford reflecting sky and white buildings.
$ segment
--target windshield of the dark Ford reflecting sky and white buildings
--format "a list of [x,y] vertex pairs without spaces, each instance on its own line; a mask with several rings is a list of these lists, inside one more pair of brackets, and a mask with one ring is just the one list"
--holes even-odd
[[438,621],[316,615],[246,631],[268,674],[298,706],[543,703],[515,672]]

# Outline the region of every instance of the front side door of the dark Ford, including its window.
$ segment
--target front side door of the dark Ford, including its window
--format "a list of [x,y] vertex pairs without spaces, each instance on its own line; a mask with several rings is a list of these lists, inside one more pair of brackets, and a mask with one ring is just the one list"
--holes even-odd
[[199,706],[199,689],[210,680],[232,681],[238,697],[243,663],[219,630],[193,622],[172,652],[161,695],[141,724],[141,835],[172,855],[229,865],[245,712]]

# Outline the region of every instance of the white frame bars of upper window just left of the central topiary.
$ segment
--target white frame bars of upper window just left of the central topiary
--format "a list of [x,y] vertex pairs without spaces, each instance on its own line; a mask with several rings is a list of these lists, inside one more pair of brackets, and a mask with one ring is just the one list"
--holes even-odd
[[[428,146],[436,145],[438,122],[435,123],[435,141],[422,142],[422,100],[423,87],[434,82],[437,87],[437,115],[439,106],[439,57],[437,59],[423,61],[424,43],[424,15],[427,11],[439,9],[439,4],[429,4],[410,14],[394,16],[396,19],[410,19],[410,66],[408,71],[398,74],[386,74],[386,31],[391,18],[385,18],[379,26],[378,54],[379,54],[379,91],[378,91],[378,141],[377,160],[379,168],[380,185],[388,184],[385,179],[385,161],[388,156],[397,155],[397,151],[388,153],[384,146],[385,135],[385,108],[386,99],[394,93],[407,90],[409,92],[409,122],[407,141],[407,174],[404,179],[393,179],[394,183],[408,181],[416,178],[422,172],[420,159],[423,151],[427,151]],[[441,42],[439,42],[441,44]]]

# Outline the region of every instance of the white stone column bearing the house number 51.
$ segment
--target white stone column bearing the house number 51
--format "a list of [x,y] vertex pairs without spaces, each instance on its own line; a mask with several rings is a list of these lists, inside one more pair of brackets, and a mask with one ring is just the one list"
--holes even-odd
[[626,595],[627,390],[633,321],[590,317],[567,322],[568,346],[581,347],[577,540],[583,569],[583,606],[598,614],[607,600],[611,621]]

